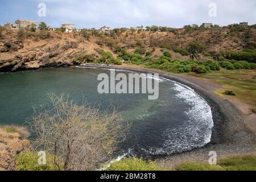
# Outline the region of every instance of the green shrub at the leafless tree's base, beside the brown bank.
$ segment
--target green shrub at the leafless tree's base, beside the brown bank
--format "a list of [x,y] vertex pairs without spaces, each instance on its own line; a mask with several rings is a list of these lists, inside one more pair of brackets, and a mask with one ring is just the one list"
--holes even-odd
[[[46,165],[38,163],[39,156],[36,152],[24,151],[18,155],[16,166],[19,171],[59,171],[59,168],[54,164],[54,156],[46,154]],[[63,165],[60,164],[60,170],[63,170]]]

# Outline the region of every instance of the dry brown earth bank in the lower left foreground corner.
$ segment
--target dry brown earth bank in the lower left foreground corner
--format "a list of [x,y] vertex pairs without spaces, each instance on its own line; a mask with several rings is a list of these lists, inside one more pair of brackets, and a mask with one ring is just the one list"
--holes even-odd
[[0,171],[15,171],[16,157],[25,150],[30,150],[30,141],[26,138],[26,129],[17,126],[0,127]]

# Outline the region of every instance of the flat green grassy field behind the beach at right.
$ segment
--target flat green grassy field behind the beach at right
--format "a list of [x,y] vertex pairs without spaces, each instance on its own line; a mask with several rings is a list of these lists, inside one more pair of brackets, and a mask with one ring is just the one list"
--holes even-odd
[[[241,70],[226,70],[213,71],[204,74],[187,73],[189,75],[207,78],[210,81],[217,82],[224,86],[227,90],[232,90],[236,93],[238,99],[246,104],[256,106],[256,71],[241,69]],[[220,94],[223,94],[223,90]]]

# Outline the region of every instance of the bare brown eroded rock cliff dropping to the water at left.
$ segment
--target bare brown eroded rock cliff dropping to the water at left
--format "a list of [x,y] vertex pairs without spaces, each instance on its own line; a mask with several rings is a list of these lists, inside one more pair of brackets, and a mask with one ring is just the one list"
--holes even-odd
[[97,46],[73,34],[47,32],[20,38],[9,30],[0,39],[0,72],[17,72],[45,67],[67,67],[79,53],[92,53]]

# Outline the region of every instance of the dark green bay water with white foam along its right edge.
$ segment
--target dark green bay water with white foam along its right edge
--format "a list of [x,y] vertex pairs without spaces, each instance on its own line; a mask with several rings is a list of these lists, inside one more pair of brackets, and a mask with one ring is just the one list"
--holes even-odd
[[[119,71],[128,74],[126,71]],[[192,89],[164,79],[159,99],[147,94],[98,94],[99,73],[108,69],[54,68],[35,72],[0,74],[0,123],[23,125],[49,92],[68,93],[79,103],[89,101],[101,108],[110,103],[132,122],[131,134],[121,148],[135,154],[165,155],[191,150],[210,142],[212,113]]]

